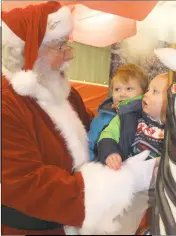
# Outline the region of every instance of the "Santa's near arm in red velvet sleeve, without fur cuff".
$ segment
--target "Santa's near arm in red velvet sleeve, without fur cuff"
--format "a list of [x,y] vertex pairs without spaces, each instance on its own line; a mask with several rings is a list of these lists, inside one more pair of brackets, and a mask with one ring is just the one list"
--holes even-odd
[[81,173],[44,165],[19,117],[10,101],[2,104],[2,204],[37,219],[80,226],[84,219]]

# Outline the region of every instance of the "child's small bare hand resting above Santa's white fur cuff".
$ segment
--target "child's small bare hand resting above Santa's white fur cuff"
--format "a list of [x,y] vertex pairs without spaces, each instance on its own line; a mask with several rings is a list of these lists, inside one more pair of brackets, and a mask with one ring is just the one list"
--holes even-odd
[[121,156],[116,153],[109,155],[106,158],[106,165],[113,170],[119,170],[122,165]]

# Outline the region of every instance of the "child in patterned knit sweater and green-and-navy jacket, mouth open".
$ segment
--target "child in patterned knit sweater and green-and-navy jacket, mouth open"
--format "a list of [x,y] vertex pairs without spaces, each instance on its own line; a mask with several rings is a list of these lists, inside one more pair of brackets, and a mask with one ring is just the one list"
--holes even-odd
[[[116,116],[98,141],[98,160],[118,170],[129,155],[150,150],[150,158],[159,157],[163,148],[167,107],[168,74],[156,76],[149,84],[142,101],[142,113],[128,119]],[[133,128],[131,128],[133,127]],[[135,130],[135,129],[136,130]],[[120,134],[120,135],[119,135]],[[131,139],[133,143],[131,143]],[[129,142],[130,140],[130,142]]]

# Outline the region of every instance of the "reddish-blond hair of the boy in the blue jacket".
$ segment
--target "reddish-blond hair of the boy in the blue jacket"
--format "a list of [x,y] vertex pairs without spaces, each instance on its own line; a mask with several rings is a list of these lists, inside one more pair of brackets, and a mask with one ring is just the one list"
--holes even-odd
[[143,92],[146,92],[149,84],[149,78],[145,74],[144,70],[135,64],[120,66],[111,80],[111,88],[113,88],[114,81],[128,83],[129,79],[138,81]]

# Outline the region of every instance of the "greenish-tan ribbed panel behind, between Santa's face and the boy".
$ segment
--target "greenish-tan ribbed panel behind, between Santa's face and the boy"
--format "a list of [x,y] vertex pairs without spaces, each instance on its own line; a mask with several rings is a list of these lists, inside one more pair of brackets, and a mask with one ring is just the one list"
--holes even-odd
[[109,84],[111,47],[93,47],[77,42],[73,47],[74,59],[68,71],[70,80],[95,84]]

